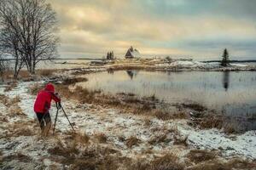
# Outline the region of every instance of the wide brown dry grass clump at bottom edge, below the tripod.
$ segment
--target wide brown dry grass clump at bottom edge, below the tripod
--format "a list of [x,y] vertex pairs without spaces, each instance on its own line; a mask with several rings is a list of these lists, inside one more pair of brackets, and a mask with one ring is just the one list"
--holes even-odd
[[86,145],[83,150],[78,150],[77,145],[59,144],[48,150],[61,164],[70,166],[69,169],[118,169],[128,158],[119,155],[117,150],[99,145]]

